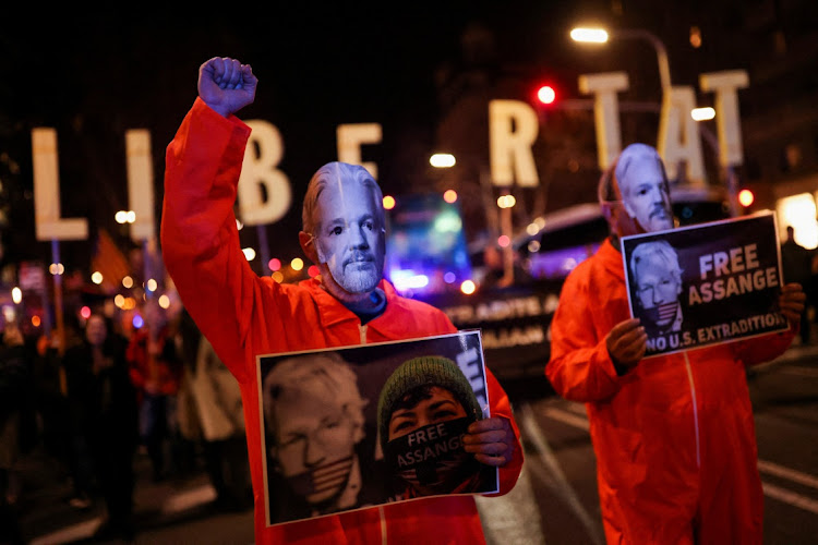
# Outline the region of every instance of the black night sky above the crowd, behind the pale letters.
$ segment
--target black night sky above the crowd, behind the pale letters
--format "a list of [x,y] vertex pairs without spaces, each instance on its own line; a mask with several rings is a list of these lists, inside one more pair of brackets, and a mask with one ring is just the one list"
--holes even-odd
[[[35,126],[58,131],[62,216],[86,217],[92,234],[105,227],[121,239],[112,218],[128,204],[124,133],[148,129],[158,222],[165,147],[196,96],[200,64],[210,57],[253,65],[260,80],[256,102],[240,117],[269,121],[284,137],[280,169],[292,184],[293,207],[268,231],[282,241],[273,255],[287,258],[300,255],[301,198],[312,172],[336,159],[339,123],[381,123],[383,143],[364,147],[363,159],[378,164],[385,193],[411,192],[433,150],[435,77],[462,63],[460,37],[469,25],[483,24],[495,35],[498,65],[541,66],[563,77],[575,96],[577,74],[611,70],[599,56],[567,44],[567,29],[579,14],[590,19],[599,8],[610,11],[610,2],[264,5],[236,14],[228,13],[232,7],[217,14],[135,5],[128,8],[133,11],[117,7],[116,13],[113,8],[85,14],[44,9],[4,19],[0,180],[2,198],[11,204],[4,263],[47,258],[50,252],[47,242],[32,243]],[[651,51],[645,55],[654,63]],[[63,244],[67,259],[73,256],[82,266],[89,244]]]

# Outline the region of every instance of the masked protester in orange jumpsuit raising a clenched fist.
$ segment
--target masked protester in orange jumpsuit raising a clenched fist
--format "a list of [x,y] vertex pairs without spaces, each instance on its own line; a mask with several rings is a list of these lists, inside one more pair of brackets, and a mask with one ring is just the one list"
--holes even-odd
[[[441,496],[267,526],[256,355],[452,334],[432,306],[383,279],[381,190],[362,167],[323,166],[306,189],[299,241],[320,277],[279,284],[256,276],[239,244],[233,205],[250,128],[234,114],[257,80],[229,58],[202,64],[199,97],[167,150],[163,254],[182,303],[238,379],[244,404],[258,543],[483,543],[473,497]],[[491,417],[465,449],[500,468],[501,494],[522,465],[508,397],[486,371]],[[362,470],[365,479],[365,469]]]

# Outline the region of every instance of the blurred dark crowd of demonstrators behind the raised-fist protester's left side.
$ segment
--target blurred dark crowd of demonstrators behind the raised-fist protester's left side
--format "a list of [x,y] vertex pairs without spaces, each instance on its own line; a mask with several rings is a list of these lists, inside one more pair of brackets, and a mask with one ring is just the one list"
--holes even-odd
[[[96,538],[134,536],[142,456],[154,479],[184,480],[206,470],[218,511],[251,507],[237,380],[184,310],[145,305],[135,313],[145,318],[141,327],[130,313],[113,319],[97,308],[82,317],[72,308],[64,313],[61,334],[2,322],[0,543],[23,543],[19,522],[26,501],[20,498],[37,481],[29,482],[20,468],[33,452],[52,464],[49,473],[61,486],[68,485],[67,507],[104,505],[106,518]],[[190,402],[177,411],[182,393]],[[188,437],[187,456],[181,420],[199,431]]]

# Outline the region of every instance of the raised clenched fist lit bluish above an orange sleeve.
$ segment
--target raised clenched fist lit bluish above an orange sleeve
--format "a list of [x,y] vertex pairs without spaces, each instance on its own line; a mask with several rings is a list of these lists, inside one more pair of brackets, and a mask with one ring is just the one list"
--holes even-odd
[[199,96],[224,117],[253,104],[258,80],[250,64],[214,57],[199,68]]

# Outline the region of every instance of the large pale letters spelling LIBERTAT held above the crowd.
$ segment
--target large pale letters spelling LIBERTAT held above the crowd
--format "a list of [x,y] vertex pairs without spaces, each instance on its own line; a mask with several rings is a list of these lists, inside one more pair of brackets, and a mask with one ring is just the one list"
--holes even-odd
[[[701,74],[703,92],[715,95],[715,121],[719,135],[719,162],[722,167],[742,164],[742,133],[737,90],[748,86],[744,71]],[[617,93],[627,90],[624,72],[582,75],[580,90],[593,96],[598,162],[608,168],[622,149]],[[705,164],[699,129],[690,118],[695,107],[691,86],[673,86],[665,92],[660,112],[658,149],[667,174],[675,179],[678,165],[685,178],[703,183]],[[249,226],[274,223],[292,205],[287,173],[279,169],[284,157],[284,137],[264,120],[249,120],[252,129],[238,187],[239,218]],[[520,100],[489,102],[489,143],[492,183],[497,186],[537,186],[540,183],[532,146],[540,131],[537,111]],[[125,132],[129,206],[136,220],[131,225],[134,240],[155,237],[154,179],[149,131]],[[382,141],[380,123],[340,124],[336,129],[339,161],[362,165],[377,179],[377,165],[361,161],[361,146]],[[60,211],[59,157],[57,132],[50,128],[32,131],[34,162],[34,208],[37,240],[85,240],[85,218],[62,218]]]

